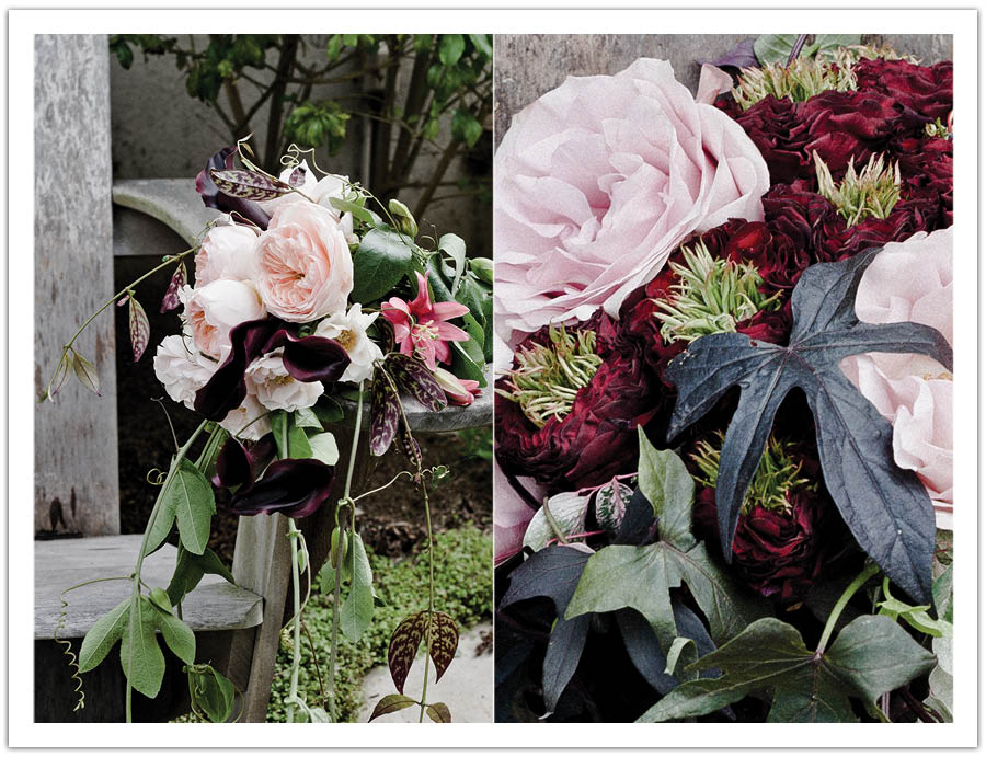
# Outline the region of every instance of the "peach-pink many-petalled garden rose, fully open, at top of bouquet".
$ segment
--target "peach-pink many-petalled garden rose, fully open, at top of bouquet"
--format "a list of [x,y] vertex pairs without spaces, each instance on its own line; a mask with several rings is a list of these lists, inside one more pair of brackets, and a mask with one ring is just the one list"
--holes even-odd
[[254,280],[268,312],[306,323],[345,310],[353,256],[330,210],[307,202],[279,206],[255,254]]

